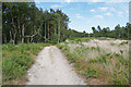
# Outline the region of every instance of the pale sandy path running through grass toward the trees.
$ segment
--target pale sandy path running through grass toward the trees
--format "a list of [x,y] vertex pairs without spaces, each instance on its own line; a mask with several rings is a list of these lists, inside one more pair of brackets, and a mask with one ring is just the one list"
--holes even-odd
[[27,77],[27,85],[85,85],[55,46],[45,47]]

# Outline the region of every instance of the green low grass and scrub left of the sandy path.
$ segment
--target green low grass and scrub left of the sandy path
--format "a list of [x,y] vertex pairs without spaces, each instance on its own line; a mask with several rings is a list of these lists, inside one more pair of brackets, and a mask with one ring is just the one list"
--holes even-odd
[[34,58],[46,46],[44,44],[20,44],[2,46],[2,84],[14,85],[26,82],[27,70]]

